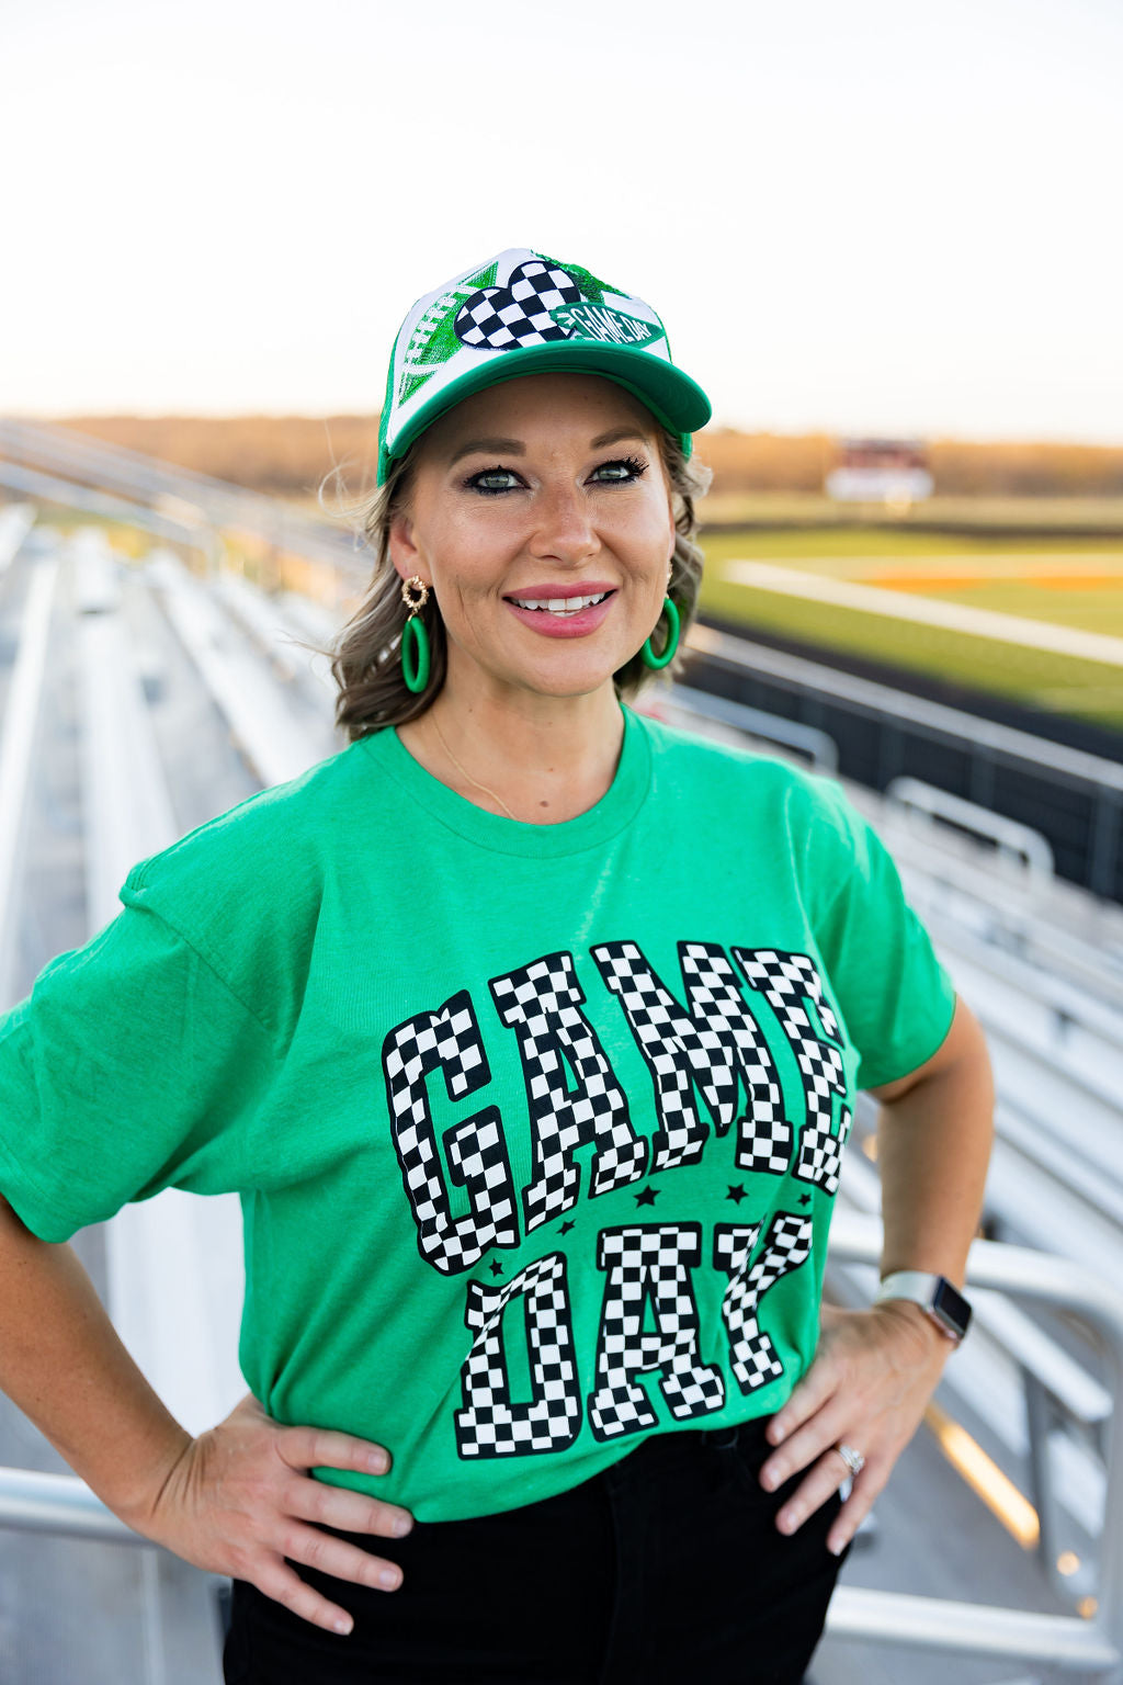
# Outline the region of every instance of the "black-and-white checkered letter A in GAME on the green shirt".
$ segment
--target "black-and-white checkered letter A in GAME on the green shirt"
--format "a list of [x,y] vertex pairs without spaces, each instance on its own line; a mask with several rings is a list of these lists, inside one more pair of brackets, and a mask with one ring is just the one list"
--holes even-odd
[[[596,1142],[589,1193],[608,1193],[643,1176],[647,1141],[631,1127],[628,1100],[581,1011],[584,994],[571,954],[495,977],[498,1016],[519,1036],[534,1134],[534,1181],[524,1190],[527,1233],[576,1203],[576,1147]],[[566,1082],[566,1065],[576,1089]]]

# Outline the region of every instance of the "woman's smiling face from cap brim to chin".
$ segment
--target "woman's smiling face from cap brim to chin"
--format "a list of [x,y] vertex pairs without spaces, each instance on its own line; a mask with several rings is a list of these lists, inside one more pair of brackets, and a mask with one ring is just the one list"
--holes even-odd
[[675,549],[652,413],[596,374],[530,374],[466,398],[416,452],[391,556],[434,590],[450,691],[611,684],[655,629]]

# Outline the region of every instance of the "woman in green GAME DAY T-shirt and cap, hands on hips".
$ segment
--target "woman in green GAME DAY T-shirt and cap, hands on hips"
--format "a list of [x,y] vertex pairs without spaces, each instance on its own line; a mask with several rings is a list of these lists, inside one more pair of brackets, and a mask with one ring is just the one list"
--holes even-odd
[[[576,265],[419,300],[352,745],[135,866],[0,1021],[0,1380],[234,1577],[229,1682],[795,1685],[970,1314],[987,1055],[886,851],[621,708],[694,612],[707,416]],[[837,1311],[857,1085],[886,1279]],[[251,1392],[199,1439],[57,1244],[170,1185],[247,1223]]]

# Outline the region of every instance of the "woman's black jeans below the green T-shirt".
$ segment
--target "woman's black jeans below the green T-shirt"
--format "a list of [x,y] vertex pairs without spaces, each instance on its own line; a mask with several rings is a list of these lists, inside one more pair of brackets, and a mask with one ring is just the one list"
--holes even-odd
[[842,1562],[835,1495],[793,1535],[766,1493],[768,1417],[647,1439],[571,1491],[407,1538],[381,1592],[300,1567],[355,1619],[340,1638],[234,1582],[227,1685],[800,1685]]

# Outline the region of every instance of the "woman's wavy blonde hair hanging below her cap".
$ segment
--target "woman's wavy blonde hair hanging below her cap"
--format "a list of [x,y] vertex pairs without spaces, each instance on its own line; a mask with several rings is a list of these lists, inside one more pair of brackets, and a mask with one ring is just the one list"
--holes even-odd
[[[704,463],[687,457],[680,440],[665,428],[658,430],[658,447],[670,485],[677,532],[667,595],[679,610],[685,635],[697,610],[702,580],[702,551],[695,543],[699,529],[695,502],[709,490],[712,475]],[[409,504],[418,463],[416,448],[412,445],[404,457],[396,460],[386,484],[354,511],[355,524],[374,551],[374,571],[359,608],[330,649],[318,652],[330,657],[332,676],[338,687],[335,725],[347,733],[352,743],[372,731],[384,731],[387,726],[401,726],[407,719],[416,719],[436,701],[444,684],[444,625],[433,591],[428,605],[421,610],[429,634],[429,682],[419,696],[406,689],[401,666],[401,635],[407,612],[401,595],[402,581],[391,561],[391,522]],[[660,629],[657,647],[663,647],[668,630],[662,615]],[[680,662],[682,654],[675,655],[663,672],[673,676]],[[636,654],[613,674],[613,682],[618,696],[631,699],[653,677],[655,672]]]

